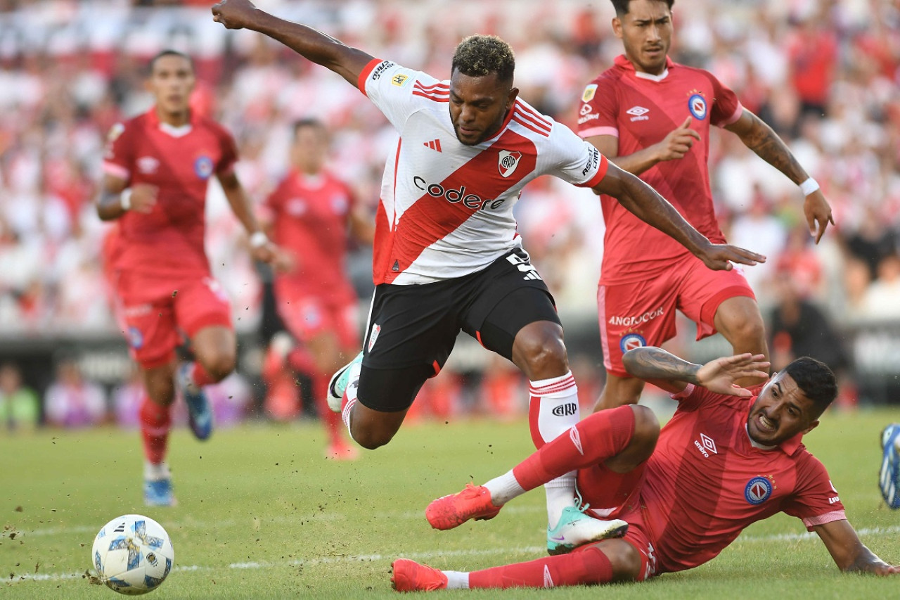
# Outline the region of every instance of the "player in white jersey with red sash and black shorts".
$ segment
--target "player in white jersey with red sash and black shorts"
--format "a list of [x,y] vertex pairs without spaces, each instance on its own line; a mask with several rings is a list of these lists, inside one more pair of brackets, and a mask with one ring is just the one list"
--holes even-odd
[[[391,441],[421,386],[443,368],[460,331],[528,377],[538,446],[578,423],[578,390],[563,327],[553,297],[522,249],[513,215],[523,187],[536,177],[553,175],[617,197],[708,268],[764,260],[711,243],[652,187],[518,98],[513,52],[500,38],[462,41],[450,80],[440,81],[278,19],[247,0],[225,0],[212,14],[229,29],[264,33],[335,71],[400,132],[375,219],[375,292],[364,352],[329,385],[332,408],[365,448]],[[595,540],[610,531],[581,518],[572,505],[574,477],[561,475],[546,486],[553,551],[586,541],[576,534],[577,523],[594,528]]]

